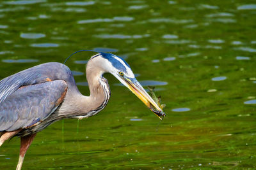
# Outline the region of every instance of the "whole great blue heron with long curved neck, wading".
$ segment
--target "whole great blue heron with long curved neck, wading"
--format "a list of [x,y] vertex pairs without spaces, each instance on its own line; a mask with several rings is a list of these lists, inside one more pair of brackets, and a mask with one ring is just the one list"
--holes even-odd
[[0,146],[13,136],[20,137],[17,169],[21,169],[37,132],[63,118],[92,117],[104,109],[110,97],[104,73],[113,74],[159,118],[165,116],[136,80],[129,64],[111,53],[97,53],[87,63],[90,96],[79,92],[64,64],[48,62],[31,67],[0,81]]

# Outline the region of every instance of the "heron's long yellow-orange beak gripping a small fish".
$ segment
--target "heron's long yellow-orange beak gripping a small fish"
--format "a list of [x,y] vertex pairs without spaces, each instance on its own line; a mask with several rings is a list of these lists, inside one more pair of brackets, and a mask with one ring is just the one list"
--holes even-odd
[[125,83],[127,83],[126,87],[130,89],[137,97],[145,103],[148,108],[150,108],[151,111],[153,111],[157,117],[159,117],[161,120],[163,117],[165,117],[165,113],[163,110],[158,106],[158,104],[148,95],[148,93],[143,89],[143,87],[140,85],[139,81],[137,81],[135,78],[129,79],[124,78]]

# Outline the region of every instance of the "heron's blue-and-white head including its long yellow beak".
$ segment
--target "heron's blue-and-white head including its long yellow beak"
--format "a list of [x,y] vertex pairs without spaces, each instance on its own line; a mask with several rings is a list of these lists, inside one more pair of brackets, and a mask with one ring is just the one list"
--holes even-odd
[[103,61],[101,62],[102,69],[104,69],[105,72],[113,74],[113,76],[115,76],[123,85],[138,96],[141,101],[143,101],[143,103],[157,115],[157,117],[162,119],[162,117],[165,116],[163,110],[159,108],[157,103],[140,85],[139,81],[136,80],[131,67],[124,59],[111,53],[99,53],[93,57],[100,57]]

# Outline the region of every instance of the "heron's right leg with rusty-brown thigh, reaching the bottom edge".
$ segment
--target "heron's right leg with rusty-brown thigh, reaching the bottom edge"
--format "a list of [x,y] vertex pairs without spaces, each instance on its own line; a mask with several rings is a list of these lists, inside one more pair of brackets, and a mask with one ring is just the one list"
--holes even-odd
[[20,138],[20,157],[19,157],[19,162],[16,170],[21,169],[25,154],[29,146],[31,145],[33,139],[35,138],[35,136],[36,134],[29,134],[28,136],[24,136]]

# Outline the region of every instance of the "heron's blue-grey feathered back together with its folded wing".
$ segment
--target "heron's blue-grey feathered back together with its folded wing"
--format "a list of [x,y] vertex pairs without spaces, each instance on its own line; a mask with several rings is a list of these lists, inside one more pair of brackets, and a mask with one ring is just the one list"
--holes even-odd
[[58,62],[31,67],[0,81],[0,131],[26,129],[49,117],[67,89],[79,92],[70,69]]

